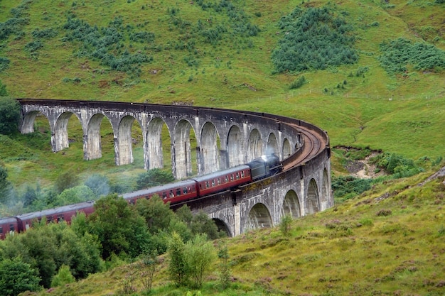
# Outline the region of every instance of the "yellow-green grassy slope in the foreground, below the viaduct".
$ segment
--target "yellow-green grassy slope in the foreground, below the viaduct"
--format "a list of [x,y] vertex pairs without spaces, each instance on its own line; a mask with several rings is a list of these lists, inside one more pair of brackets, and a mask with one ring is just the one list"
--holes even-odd
[[[149,295],[444,295],[443,170],[433,180],[426,172],[377,185],[368,194],[294,220],[289,236],[276,228],[220,241],[230,255],[227,290],[220,288],[216,264],[201,294],[176,288],[163,261]],[[139,263],[122,265],[50,294],[124,295],[127,288],[144,295],[144,272]]]

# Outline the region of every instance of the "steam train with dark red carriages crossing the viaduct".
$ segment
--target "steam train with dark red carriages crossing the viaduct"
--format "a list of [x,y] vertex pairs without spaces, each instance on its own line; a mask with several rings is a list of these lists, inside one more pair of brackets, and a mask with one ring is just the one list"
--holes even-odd
[[[220,170],[190,180],[124,193],[121,196],[130,204],[135,204],[137,199],[149,199],[157,194],[164,202],[176,204],[225,190],[234,190],[240,185],[261,180],[281,171],[282,165],[279,163],[277,155],[264,155],[262,158],[256,158],[245,165],[237,165],[227,170]],[[41,221],[43,216],[45,216],[47,223],[52,221],[67,221],[70,223],[72,217],[77,212],[83,212],[86,215],[94,212],[94,204],[95,202],[80,202],[78,204],[2,218],[0,219],[0,239],[4,239],[6,234],[26,231],[34,222]]]

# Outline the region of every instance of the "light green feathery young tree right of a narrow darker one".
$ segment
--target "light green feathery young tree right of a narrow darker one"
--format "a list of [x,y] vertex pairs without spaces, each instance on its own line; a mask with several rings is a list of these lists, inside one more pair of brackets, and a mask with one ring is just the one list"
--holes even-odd
[[207,240],[205,234],[196,235],[186,244],[188,272],[195,287],[201,287],[206,275],[210,273],[215,263],[216,253],[213,243]]

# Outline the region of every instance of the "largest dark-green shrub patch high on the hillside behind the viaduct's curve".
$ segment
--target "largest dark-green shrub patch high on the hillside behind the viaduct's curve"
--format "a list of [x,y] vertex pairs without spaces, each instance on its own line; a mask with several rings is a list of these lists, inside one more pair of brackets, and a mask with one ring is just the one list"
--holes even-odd
[[358,60],[352,45],[352,27],[328,7],[297,7],[279,21],[286,32],[272,52],[275,72],[324,70],[328,66],[353,64]]

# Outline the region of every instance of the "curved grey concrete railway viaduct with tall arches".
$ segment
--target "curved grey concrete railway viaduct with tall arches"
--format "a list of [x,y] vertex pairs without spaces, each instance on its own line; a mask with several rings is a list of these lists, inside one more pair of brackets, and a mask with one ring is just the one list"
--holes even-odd
[[[36,116],[45,116],[54,152],[68,148],[68,121],[78,120],[85,160],[102,157],[100,131],[102,123],[108,121],[116,165],[133,163],[132,126],[139,125],[144,168],[163,168],[164,156],[170,153],[176,179],[223,170],[264,154],[279,155],[284,170],[278,175],[186,202],[192,211],[206,212],[230,236],[274,226],[284,214],[297,218],[333,206],[329,138],[325,131],[305,121],[196,106],[18,101],[22,110],[21,132],[33,132]],[[169,141],[170,151],[163,151],[163,141]]]

